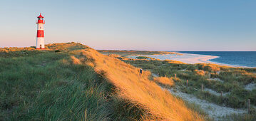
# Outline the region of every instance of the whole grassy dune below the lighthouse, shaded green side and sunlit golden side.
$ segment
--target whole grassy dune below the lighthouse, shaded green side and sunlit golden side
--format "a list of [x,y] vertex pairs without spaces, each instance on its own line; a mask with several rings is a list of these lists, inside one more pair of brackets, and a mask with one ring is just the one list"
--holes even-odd
[[1,120],[203,120],[149,71],[80,43],[46,48],[0,49]]

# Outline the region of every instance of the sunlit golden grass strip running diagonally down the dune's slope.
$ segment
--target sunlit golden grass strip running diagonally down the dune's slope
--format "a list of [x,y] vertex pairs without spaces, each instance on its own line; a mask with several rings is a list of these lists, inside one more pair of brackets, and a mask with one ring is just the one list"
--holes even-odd
[[91,48],[81,51],[81,55],[81,59],[93,61],[96,72],[106,72],[106,78],[116,86],[120,98],[129,100],[151,114],[145,120],[203,120],[198,113],[189,110],[182,100],[149,80],[150,71],[143,71],[140,77],[139,69],[133,65],[104,56]]

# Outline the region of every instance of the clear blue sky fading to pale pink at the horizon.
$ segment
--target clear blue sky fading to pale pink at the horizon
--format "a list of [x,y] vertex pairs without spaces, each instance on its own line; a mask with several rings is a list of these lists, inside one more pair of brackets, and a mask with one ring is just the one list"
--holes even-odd
[[0,1],[0,47],[45,43],[95,49],[256,51],[255,0]]

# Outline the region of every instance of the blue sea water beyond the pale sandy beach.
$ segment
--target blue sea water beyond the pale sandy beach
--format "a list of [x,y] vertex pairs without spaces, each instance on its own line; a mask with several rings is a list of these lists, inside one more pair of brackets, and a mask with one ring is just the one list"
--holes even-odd
[[209,61],[230,65],[256,67],[256,51],[178,51],[209,56],[219,56]]

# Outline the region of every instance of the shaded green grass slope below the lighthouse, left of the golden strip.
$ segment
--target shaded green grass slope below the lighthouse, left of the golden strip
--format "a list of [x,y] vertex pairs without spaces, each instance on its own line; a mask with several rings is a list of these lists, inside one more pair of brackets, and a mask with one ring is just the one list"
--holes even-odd
[[[0,57],[1,120],[140,120],[143,117],[143,109],[118,98],[104,73],[73,64],[72,51],[86,47],[71,44],[61,43],[64,46],[61,48],[65,48],[62,50],[54,44],[54,49],[49,51],[25,50],[27,56],[13,51]],[[55,53],[55,49],[61,52]]]

